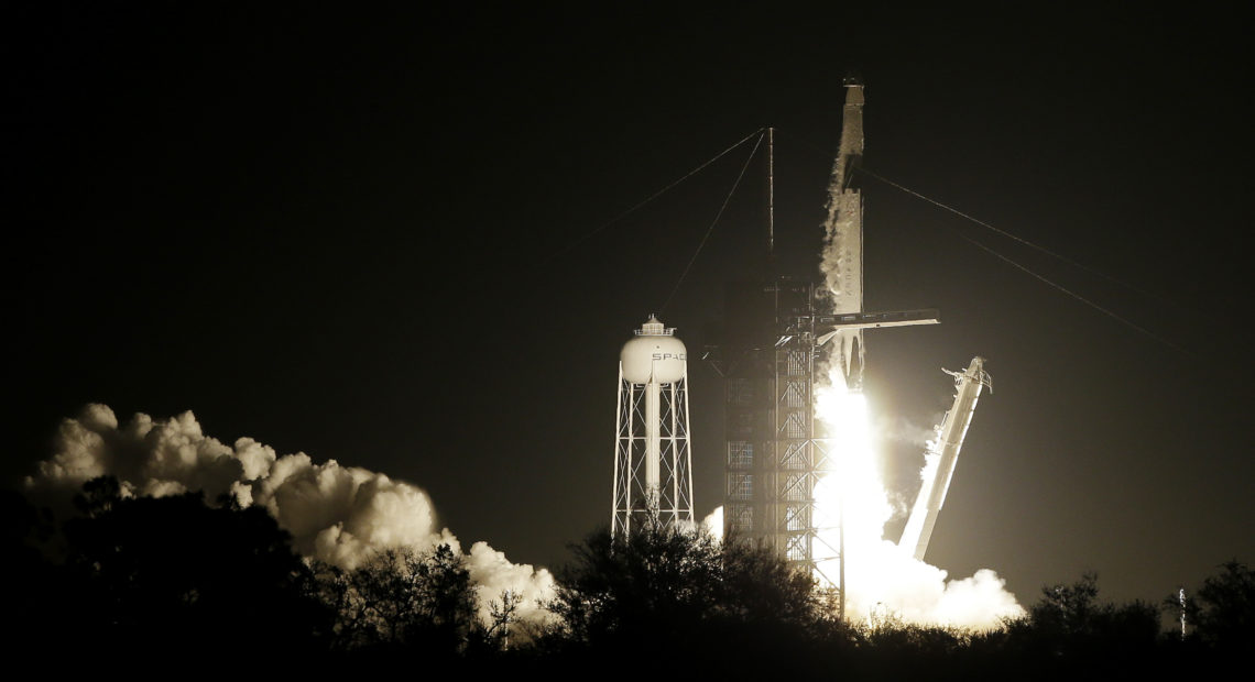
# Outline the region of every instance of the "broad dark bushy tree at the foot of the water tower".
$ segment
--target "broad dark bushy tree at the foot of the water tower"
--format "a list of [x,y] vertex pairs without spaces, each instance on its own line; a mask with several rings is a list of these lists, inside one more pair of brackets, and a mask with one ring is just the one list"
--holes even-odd
[[542,642],[569,662],[631,652],[707,674],[779,672],[825,622],[812,578],[766,548],[641,524],[572,550],[548,604],[560,631]]

